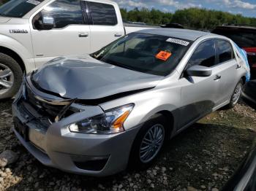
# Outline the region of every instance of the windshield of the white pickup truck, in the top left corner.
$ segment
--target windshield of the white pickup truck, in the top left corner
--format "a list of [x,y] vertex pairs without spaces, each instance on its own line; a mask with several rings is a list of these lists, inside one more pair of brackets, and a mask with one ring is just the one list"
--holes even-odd
[[23,17],[44,0],[10,0],[1,5],[0,16]]

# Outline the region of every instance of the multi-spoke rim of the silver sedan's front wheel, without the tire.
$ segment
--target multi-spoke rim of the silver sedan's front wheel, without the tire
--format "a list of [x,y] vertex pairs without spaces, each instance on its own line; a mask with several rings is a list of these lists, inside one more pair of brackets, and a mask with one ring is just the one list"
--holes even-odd
[[149,163],[157,156],[165,139],[165,128],[157,124],[152,126],[146,132],[142,143],[140,144],[140,161]]

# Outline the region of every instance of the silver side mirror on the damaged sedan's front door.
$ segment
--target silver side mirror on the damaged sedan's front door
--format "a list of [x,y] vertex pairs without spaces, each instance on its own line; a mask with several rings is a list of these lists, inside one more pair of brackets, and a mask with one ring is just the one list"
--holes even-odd
[[212,69],[206,66],[192,66],[187,69],[186,73],[192,77],[210,77]]

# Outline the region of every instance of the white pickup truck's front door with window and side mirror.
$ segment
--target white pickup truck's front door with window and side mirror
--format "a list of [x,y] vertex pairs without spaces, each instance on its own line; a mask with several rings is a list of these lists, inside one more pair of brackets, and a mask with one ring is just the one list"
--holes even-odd
[[90,26],[82,7],[80,0],[56,0],[32,15],[31,38],[37,67],[57,56],[90,52]]

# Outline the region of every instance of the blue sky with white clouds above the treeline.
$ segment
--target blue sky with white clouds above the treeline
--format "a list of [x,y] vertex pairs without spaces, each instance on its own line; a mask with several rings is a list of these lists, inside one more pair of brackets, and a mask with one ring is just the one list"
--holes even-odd
[[114,0],[120,7],[154,8],[164,12],[175,12],[176,9],[199,7],[217,9],[246,17],[256,17],[256,0]]

